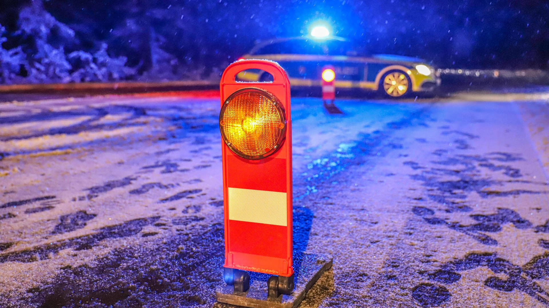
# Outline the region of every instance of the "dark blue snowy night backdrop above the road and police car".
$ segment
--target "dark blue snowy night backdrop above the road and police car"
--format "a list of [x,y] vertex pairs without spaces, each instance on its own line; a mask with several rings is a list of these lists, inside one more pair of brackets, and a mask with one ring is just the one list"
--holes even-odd
[[[88,81],[98,74],[86,75],[89,67],[105,62],[117,64],[105,67],[105,79],[205,78],[255,42],[306,35],[319,20],[372,54],[417,56],[443,68],[549,68],[549,2],[542,0],[2,0],[0,7],[4,83],[8,75],[63,81],[78,68],[71,81]],[[35,65],[52,62],[53,69]]]

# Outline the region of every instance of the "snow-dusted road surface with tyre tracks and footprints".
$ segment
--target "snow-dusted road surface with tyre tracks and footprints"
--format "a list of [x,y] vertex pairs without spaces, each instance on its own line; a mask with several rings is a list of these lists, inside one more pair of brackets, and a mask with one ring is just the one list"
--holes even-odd
[[[549,307],[547,98],[468,95],[292,100],[294,248],[334,258],[301,307]],[[225,307],[218,118],[0,104],[0,307]]]

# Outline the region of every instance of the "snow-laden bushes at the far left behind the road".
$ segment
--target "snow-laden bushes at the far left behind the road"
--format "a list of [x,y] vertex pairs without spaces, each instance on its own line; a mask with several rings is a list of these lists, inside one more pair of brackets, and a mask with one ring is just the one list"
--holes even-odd
[[[107,82],[131,78],[136,70],[126,58],[111,58],[108,45],[90,52],[74,50],[75,32],[44,10],[40,1],[20,10],[18,30],[12,33],[19,46],[6,50],[5,28],[0,25],[0,83]],[[69,47],[69,48],[68,48]],[[73,49],[69,53],[67,49]]]

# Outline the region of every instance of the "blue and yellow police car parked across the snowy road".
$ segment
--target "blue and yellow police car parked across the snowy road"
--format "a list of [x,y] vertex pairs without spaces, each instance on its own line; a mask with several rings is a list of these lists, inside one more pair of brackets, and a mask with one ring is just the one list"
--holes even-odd
[[[287,72],[292,88],[321,87],[322,67],[335,68],[335,88],[368,89],[390,98],[414,92],[433,92],[440,85],[439,72],[424,60],[399,55],[367,55],[354,51],[341,37],[293,37],[257,44],[240,59],[278,62]],[[270,81],[268,73],[247,70],[239,81]]]

